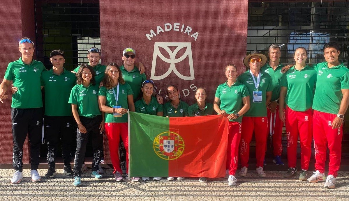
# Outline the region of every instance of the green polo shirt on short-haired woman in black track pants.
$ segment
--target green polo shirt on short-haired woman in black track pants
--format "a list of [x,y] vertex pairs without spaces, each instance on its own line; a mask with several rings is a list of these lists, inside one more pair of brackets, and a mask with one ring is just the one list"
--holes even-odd
[[97,83],[95,86],[90,84],[88,87],[77,84],[72,88],[68,103],[77,105],[79,116],[92,118],[101,115],[98,107],[98,89]]

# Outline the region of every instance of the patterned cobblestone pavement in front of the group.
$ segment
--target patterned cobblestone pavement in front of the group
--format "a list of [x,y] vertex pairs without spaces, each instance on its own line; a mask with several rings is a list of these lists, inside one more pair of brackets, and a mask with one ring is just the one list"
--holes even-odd
[[[44,176],[46,169],[39,169]],[[324,188],[324,182],[307,183],[297,179],[285,179],[285,171],[265,171],[266,178],[248,171],[246,177],[237,177],[236,186],[228,186],[227,179],[208,179],[201,184],[198,178],[180,181],[126,180],[116,182],[111,170],[106,170],[102,179],[94,179],[87,170],[82,176],[82,186],[73,186],[73,177],[61,174],[57,169],[55,178],[42,178],[32,183],[30,170],[24,169],[22,182],[10,184],[14,170],[0,169],[0,200],[349,200],[349,172],[339,172],[336,188]],[[312,173],[309,172],[308,176]]]

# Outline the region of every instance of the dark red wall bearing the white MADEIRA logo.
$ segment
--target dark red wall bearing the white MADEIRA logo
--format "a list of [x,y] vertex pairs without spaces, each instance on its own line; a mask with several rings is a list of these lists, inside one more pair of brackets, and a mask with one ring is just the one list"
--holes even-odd
[[[122,11],[116,11],[120,8]],[[182,100],[191,105],[194,103],[194,86],[203,86],[207,88],[208,101],[212,102],[217,86],[227,80],[225,65],[234,63],[239,73],[245,71],[243,58],[246,55],[247,11],[247,0],[132,1],[128,6],[121,1],[100,1],[102,62],[120,63],[122,50],[132,47],[136,50],[137,60],[146,67],[147,78],[151,78],[155,43],[162,42],[160,45],[164,45],[164,42],[168,42],[165,45],[173,45],[169,42],[182,42],[180,45],[191,46],[194,79],[181,79],[172,71],[161,80],[153,79],[158,87],[157,92],[165,98],[166,86],[177,85]],[[170,31],[165,31],[165,23],[171,24]],[[178,31],[173,30],[174,23],[179,23]],[[157,34],[157,26],[164,32]],[[187,26],[192,29],[190,35],[198,32],[196,40],[184,33]],[[156,34],[149,37],[151,40],[146,36],[151,33],[150,30]],[[167,51],[161,47],[158,49],[170,59],[175,48],[169,47]],[[174,58],[180,58],[185,51],[186,48],[180,49]],[[156,58],[154,75],[161,76],[168,71],[170,63]],[[190,76],[188,57],[174,65],[180,74]]]

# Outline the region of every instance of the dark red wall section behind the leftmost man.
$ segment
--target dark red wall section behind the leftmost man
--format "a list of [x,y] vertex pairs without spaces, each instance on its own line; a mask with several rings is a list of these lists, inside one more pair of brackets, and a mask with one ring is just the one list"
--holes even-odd
[[[22,37],[35,39],[34,1],[2,0],[0,1],[1,17],[1,46],[0,66],[1,81],[5,75],[7,64],[18,60],[18,41]],[[7,92],[10,95],[10,91]],[[12,163],[12,130],[11,130],[11,97],[0,103],[0,163]],[[24,143],[23,163],[29,163],[28,143]]]

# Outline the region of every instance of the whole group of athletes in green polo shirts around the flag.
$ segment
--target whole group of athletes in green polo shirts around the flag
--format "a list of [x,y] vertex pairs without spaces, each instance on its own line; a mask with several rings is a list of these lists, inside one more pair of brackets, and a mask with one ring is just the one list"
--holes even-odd
[[[295,50],[295,64],[282,65],[280,46],[272,44],[267,57],[258,51],[244,58],[246,72],[237,76],[237,67],[225,67],[227,81],[217,87],[213,104],[206,102],[206,90],[199,87],[195,92],[196,103],[189,106],[181,101],[178,87],[169,85],[169,101],[163,103],[156,94],[155,84],[143,74],[142,63],[136,63],[136,51],[126,48],[122,52],[123,64],[99,64],[101,51],[92,47],[88,50],[88,64],[81,64],[70,72],[63,66],[64,52],[54,50],[50,55],[52,69],[46,70],[43,63],[33,60],[34,43],[22,38],[18,43],[22,57],[8,64],[0,85],[0,101],[8,98],[6,92],[12,87],[12,133],[13,167],[15,173],[10,180],[18,184],[23,178],[23,144],[30,142],[31,171],[33,182],[40,181],[40,140],[47,141],[47,163],[45,177],[52,178],[55,171],[57,146],[62,147],[63,173],[74,176],[74,186],[81,185],[81,175],[88,139],[92,141],[91,177],[102,178],[103,131],[109,141],[110,158],[114,178],[121,181],[118,147],[120,139],[126,149],[126,172],[128,172],[128,124],[127,110],[165,117],[187,117],[223,115],[229,119],[228,153],[226,178],[228,185],[236,185],[235,177],[238,157],[241,169],[238,175],[246,176],[252,135],[256,139],[256,172],[266,177],[263,171],[267,138],[270,134],[276,165],[281,160],[282,127],[287,131],[287,158],[289,169],[284,177],[291,178],[297,172],[297,139],[301,147],[300,180],[317,183],[326,181],[324,187],[334,188],[341,160],[343,118],[348,108],[349,70],[340,63],[340,47],[335,42],[324,45],[326,62],[313,66],[306,64],[307,52],[303,47]],[[137,68],[138,66],[138,68]],[[45,111],[41,89],[44,88]],[[315,90],[314,90],[315,89]],[[44,116],[43,116],[44,114]],[[78,126],[74,168],[70,166],[70,142],[73,139],[73,121]],[[42,135],[42,127],[44,134]],[[307,170],[311,157],[311,142],[314,139],[315,172],[308,178]],[[325,176],[326,149],[329,148],[329,173]],[[132,177],[132,181],[150,180],[149,177]],[[153,177],[160,180],[162,177]],[[167,177],[173,180],[174,177]],[[178,180],[184,177],[177,177]],[[206,183],[205,177],[200,177]]]

